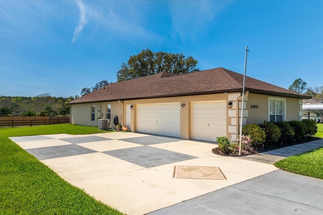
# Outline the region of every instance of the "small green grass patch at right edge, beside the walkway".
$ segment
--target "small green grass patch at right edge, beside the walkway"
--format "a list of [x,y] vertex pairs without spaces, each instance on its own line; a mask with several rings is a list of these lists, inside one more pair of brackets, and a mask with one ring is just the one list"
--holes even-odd
[[275,166],[288,172],[323,179],[323,148],[284,158]]

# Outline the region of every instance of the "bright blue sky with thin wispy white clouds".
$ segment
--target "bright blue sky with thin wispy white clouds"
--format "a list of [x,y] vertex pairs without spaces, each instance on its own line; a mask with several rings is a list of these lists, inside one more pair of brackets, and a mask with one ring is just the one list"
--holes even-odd
[[323,85],[323,1],[0,1],[0,95],[75,96],[143,49]]

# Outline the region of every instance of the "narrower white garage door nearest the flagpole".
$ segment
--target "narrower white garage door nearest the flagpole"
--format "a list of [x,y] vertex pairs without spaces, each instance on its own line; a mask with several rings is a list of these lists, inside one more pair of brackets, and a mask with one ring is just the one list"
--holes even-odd
[[216,142],[217,137],[227,136],[226,103],[226,101],[192,103],[192,139]]

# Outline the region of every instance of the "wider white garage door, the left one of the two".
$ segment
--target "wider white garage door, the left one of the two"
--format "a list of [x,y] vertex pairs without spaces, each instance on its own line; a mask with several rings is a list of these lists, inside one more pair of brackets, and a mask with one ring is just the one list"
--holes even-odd
[[180,103],[137,105],[137,132],[163,136],[181,136]]

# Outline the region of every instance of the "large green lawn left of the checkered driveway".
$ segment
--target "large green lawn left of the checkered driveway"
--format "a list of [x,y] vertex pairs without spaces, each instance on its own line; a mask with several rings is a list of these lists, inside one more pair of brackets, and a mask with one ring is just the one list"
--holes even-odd
[[122,214],[67,183],[8,138],[102,132],[70,124],[0,128],[0,214]]

